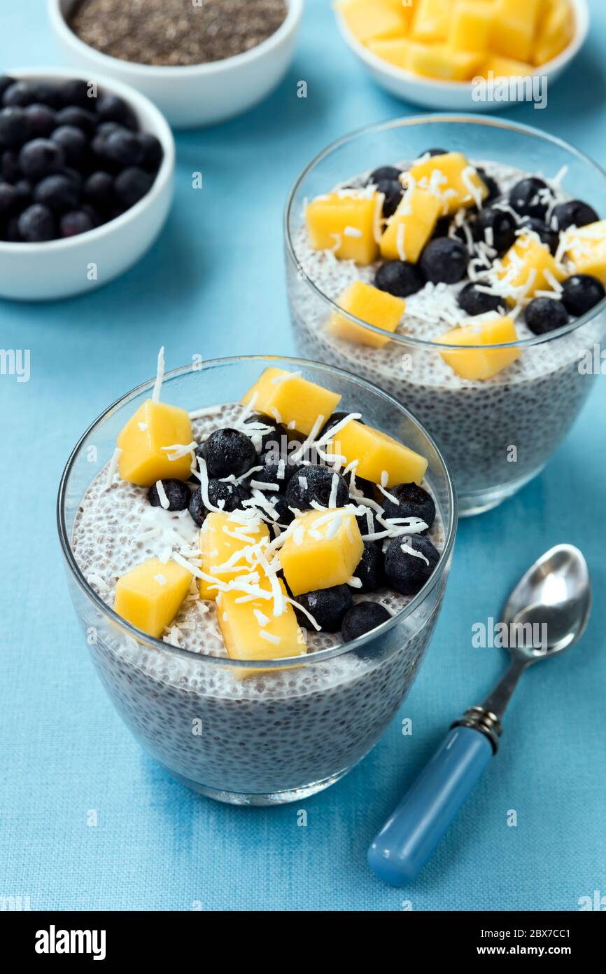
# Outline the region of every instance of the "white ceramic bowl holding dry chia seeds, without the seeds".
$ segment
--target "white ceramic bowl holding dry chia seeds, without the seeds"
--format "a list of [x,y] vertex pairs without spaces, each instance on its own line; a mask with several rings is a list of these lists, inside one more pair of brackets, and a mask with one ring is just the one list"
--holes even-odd
[[103,72],[146,94],[174,129],[212,125],[239,115],[266,97],[292,60],[303,0],[286,0],[288,14],[271,37],[251,51],[187,67],[134,64],[103,55],[81,41],[66,16],[77,0],[49,0],[49,16],[62,56],[85,74]]

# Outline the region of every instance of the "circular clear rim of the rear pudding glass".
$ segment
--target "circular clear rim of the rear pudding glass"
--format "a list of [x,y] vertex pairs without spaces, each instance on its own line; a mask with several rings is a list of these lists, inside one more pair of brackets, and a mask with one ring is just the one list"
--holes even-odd
[[[549,132],[534,129],[532,126],[521,125],[517,122],[510,122],[509,120],[496,118],[492,115],[482,114],[481,117],[479,117],[476,115],[459,115],[455,113],[433,113],[427,115],[410,115],[397,119],[389,119],[385,122],[374,123],[373,125],[363,126],[361,129],[356,129],[355,131],[350,131],[345,135],[341,135],[339,138],[329,143],[329,145],[325,146],[324,149],[318,152],[307,163],[290,188],[288,197],[286,199],[286,205],[284,206],[283,229],[286,251],[289,259],[292,261],[296,269],[299,269],[301,264],[299,258],[297,257],[295,245],[291,236],[290,218],[295,205],[295,197],[306,176],[324,159],[327,159],[330,155],[332,155],[333,152],[339,149],[340,146],[346,145],[347,142],[352,142],[361,135],[371,134],[372,132],[388,131],[390,129],[399,129],[408,126],[424,124],[431,125],[435,123],[463,123],[485,126],[492,129],[515,131],[523,135],[529,135],[533,138],[539,139],[540,141],[556,145],[558,148],[569,152],[571,155],[581,160],[581,162],[583,162],[585,165],[588,165],[591,169],[594,169],[598,175],[603,177],[604,182],[606,183],[606,170],[602,169],[602,167],[591,159],[587,153],[583,152],[581,149],[576,149],[570,144],[570,142],[566,142],[564,139],[558,138],[556,135],[551,135]],[[321,290],[321,288],[314,281],[311,281],[311,279],[306,275],[303,280],[310,287],[311,291],[314,292],[320,298],[320,300],[328,306],[331,313],[338,314],[342,318],[347,318],[352,322],[352,324],[364,327],[369,331],[374,331],[376,335],[387,338],[389,341],[395,342],[397,345],[432,349],[435,352],[460,351],[462,348],[460,345],[448,345],[443,342],[437,342],[435,339],[416,338],[411,335],[403,335],[397,332],[386,331],[384,328],[379,328],[376,325],[371,324],[369,321],[364,321],[362,318],[357,318],[355,315],[351,315],[343,308],[340,308],[336,301],[333,301],[332,298],[325,294],[324,291]],[[485,352],[486,349],[527,349],[537,345],[544,345],[553,341],[554,339],[563,338],[565,335],[572,334],[572,332],[583,327],[583,325],[588,324],[589,321],[593,320],[593,318],[596,318],[604,311],[606,311],[606,297],[604,297],[599,304],[595,305],[594,308],[591,308],[591,310],[581,318],[577,318],[575,321],[564,324],[560,328],[555,328],[553,331],[547,332],[544,335],[535,335],[533,338],[521,338],[516,342],[502,342],[495,345],[465,345],[464,349],[466,352],[470,350]]]

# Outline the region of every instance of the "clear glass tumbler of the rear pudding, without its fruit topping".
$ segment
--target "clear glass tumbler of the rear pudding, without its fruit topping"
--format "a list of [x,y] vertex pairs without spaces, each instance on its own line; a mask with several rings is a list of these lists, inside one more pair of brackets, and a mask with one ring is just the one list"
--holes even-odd
[[361,172],[418,158],[433,146],[462,152],[479,165],[487,160],[533,175],[553,177],[566,167],[563,190],[602,216],[606,173],[571,145],[540,131],[485,117],[434,115],[398,119],[339,139],[303,169],[291,190],[284,220],[286,280],[299,354],[364,376],[404,402],[435,436],[452,473],[459,514],[466,515],[515,494],[564,439],[599,374],[606,302],[549,334],[491,346],[516,347],[521,356],[482,382],[459,379],[446,367],[440,352],[454,346],[389,334],[389,344],[374,349],[331,335],[326,326],[337,306],[306,276],[298,254],[306,201]]

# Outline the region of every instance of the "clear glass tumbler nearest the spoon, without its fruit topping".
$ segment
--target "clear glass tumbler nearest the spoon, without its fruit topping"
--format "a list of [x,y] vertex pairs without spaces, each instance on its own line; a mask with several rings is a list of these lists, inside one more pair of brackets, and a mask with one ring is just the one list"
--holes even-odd
[[[94,592],[71,546],[74,519],[117,433],[153,381],[115,402],[84,433],[60,483],[57,518],[73,603],[101,682],[126,726],[160,765],[196,792],[239,805],[294,801],[327,787],[374,746],[410,685],[442,605],[456,531],[450,475],[409,410],[368,382],[328,365],[250,356],[187,366],[164,379],[165,401],[193,410],[237,402],[268,365],[342,394],[339,408],[401,438],[429,460],[427,480],[442,523],[440,562],[424,588],[380,630],[288,659],[242,662],[206,656],[144,635]],[[233,679],[238,668],[273,672]]]

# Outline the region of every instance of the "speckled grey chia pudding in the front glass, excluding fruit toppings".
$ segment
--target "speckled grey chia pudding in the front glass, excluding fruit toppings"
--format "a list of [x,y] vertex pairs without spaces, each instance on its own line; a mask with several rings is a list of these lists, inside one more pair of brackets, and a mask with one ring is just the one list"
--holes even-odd
[[[363,403],[359,411],[364,412]],[[198,449],[209,442],[213,431],[245,431],[250,413],[250,407],[243,410],[241,404],[227,403],[191,414],[193,440],[202,444]],[[317,431],[315,435],[317,438]],[[255,434],[251,436],[255,441]],[[109,608],[114,607],[119,580],[147,559],[199,564],[194,555],[200,532],[190,513],[192,504],[190,509],[180,510],[165,509],[161,503],[152,506],[150,495],[156,488],[148,491],[121,479],[115,466],[114,458],[93,477],[77,506],[71,538],[78,568]],[[307,465],[307,477],[310,468]],[[354,473],[347,503],[364,504],[355,483]],[[203,485],[202,480],[202,494]],[[398,540],[405,547],[426,543],[440,553],[448,547],[448,511],[427,482],[423,487],[427,493],[421,490],[421,494],[437,502],[435,520],[420,535],[413,532],[425,524],[411,516],[406,522],[410,530],[400,526]],[[196,483],[188,484],[188,489],[193,496]],[[259,493],[256,488],[250,490],[256,496]],[[161,491],[160,487],[160,495]],[[374,491],[374,496],[386,501],[389,494],[389,489],[386,495]],[[275,500],[276,495],[266,491],[265,497]],[[396,500],[392,497],[392,502]],[[241,510],[229,516],[237,521],[240,514]],[[374,503],[374,515],[374,528],[382,530],[379,520],[387,513],[381,514]],[[368,514],[365,524],[367,521],[370,526]],[[270,530],[277,534],[272,527]],[[284,526],[282,530],[288,531]],[[393,525],[391,530],[396,530]],[[372,544],[382,548],[391,541],[379,539]],[[420,549],[426,550],[422,545]],[[417,558],[418,553],[411,560]],[[106,616],[98,603],[91,608],[89,600],[80,596],[75,601],[102,683],[147,751],[202,794],[236,804],[274,804],[333,783],[374,746],[408,693],[424,655],[440,610],[448,566],[449,557],[446,564],[440,564],[436,583],[428,585],[426,597],[417,599],[418,605],[408,614],[403,610],[412,594],[394,590],[384,576],[378,587],[365,594],[351,587],[354,606],[364,602],[384,607],[385,616],[402,613],[397,624],[377,630],[372,641],[361,646],[356,643],[352,652],[317,657],[321,651],[342,646],[343,636],[340,631],[316,631],[311,616],[303,617],[297,609],[306,642],[301,665],[253,670],[243,679],[236,678],[232,666],[220,663],[230,656],[218,615],[224,611],[226,593],[217,601],[201,598],[195,575],[176,617],[160,637],[163,650],[162,644],[154,645],[143,633],[136,639],[126,635],[115,617]],[[355,583],[355,579],[350,581]],[[305,598],[295,596],[294,604],[309,608]],[[290,605],[288,608],[293,611]],[[270,615],[268,609],[266,612]],[[321,605],[319,612],[321,618]],[[366,631],[364,627],[362,631]],[[267,659],[271,658],[269,649],[270,644]]]

